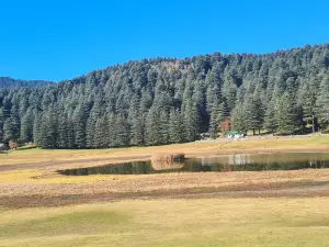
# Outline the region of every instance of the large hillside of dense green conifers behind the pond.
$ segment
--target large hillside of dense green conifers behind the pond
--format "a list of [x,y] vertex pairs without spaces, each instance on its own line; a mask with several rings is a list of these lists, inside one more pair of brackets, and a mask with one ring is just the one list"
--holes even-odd
[[105,148],[329,124],[329,44],[272,54],[128,61],[43,88],[0,89],[0,139]]

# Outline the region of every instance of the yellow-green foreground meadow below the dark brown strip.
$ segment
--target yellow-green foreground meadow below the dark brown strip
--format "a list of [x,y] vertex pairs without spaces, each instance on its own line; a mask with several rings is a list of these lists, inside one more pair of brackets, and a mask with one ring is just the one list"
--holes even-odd
[[329,199],[127,200],[1,209],[0,246],[328,246]]

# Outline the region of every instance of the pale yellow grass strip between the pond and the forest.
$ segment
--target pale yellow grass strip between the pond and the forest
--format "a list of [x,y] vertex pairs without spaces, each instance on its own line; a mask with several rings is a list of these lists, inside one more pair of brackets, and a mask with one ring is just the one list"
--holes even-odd
[[[9,155],[0,154],[0,168],[2,165],[18,164],[50,164],[70,162],[81,164],[88,159],[94,162],[126,160],[150,157],[156,153],[184,153],[189,156],[220,155],[248,151],[286,151],[286,150],[329,150],[329,136],[254,136],[246,139],[205,141],[186,144],[173,144],[154,147],[129,147],[110,149],[19,149],[11,150]],[[37,165],[37,164],[36,164]]]

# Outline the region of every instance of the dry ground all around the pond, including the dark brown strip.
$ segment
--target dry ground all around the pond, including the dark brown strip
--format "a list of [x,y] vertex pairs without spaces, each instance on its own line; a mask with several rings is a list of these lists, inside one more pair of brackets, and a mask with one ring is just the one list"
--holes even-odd
[[[329,169],[68,177],[77,168],[147,159],[155,153],[188,157],[232,153],[329,151],[329,136],[251,137],[103,150],[14,150],[1,155],[0,205],[52,206],[149,198],[327,197]],[[26,160],[26,164],[23,162]]]

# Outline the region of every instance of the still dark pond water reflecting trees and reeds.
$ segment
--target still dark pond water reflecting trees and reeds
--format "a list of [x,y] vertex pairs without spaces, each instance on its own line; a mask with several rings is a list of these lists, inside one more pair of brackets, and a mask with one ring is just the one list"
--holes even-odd
[[191,158],[182,162],[133,161],[90,168],[58,170],[67,176],[148,175],[163,172],[228,172],[329,168],[328,153],[226,155]]

